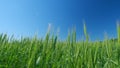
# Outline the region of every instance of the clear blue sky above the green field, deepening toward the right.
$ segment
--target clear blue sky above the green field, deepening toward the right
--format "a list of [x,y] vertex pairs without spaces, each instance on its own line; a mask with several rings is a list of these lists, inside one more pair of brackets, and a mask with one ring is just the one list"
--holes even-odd
[[116,37],[120,19],[120,0],[0,0],[0,33],[15,36],[45,36],[48,23],[60,37],[76,26],[77,38],[83,35],[83,20],[92,40],[103,39],[104,32]]

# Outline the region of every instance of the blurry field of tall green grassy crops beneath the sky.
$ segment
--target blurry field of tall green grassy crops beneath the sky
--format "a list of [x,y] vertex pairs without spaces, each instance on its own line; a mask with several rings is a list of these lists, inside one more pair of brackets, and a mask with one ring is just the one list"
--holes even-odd
[[48,32],[45,39],[16,40],[0,35],[0,68],[120,68],[120,26],[118,40],[76,41],[76,32],[64,41]]

